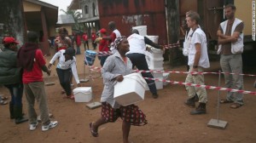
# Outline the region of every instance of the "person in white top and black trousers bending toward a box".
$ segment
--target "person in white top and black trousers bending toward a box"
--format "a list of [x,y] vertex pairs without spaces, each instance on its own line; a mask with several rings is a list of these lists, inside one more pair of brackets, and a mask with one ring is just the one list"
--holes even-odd
[[75,50],[73,48],[61,49],[49,61],[48,66],[48,68],[50,68],[55,60],[59,58],[59,63],[56,66],[56,71],[61,83],[61,87],[65,90],[67,94],[64,98],[71,100],[74,99],[70,83],[70,77],[72,76],[72,73],[76,83],[78,84],[78,87],[80,87],[79,76],[76,67],[76,58],[74,57],[74,55]]

